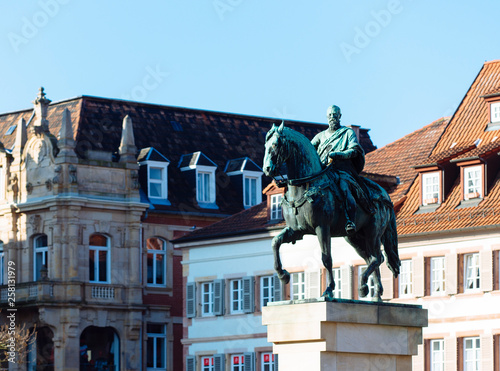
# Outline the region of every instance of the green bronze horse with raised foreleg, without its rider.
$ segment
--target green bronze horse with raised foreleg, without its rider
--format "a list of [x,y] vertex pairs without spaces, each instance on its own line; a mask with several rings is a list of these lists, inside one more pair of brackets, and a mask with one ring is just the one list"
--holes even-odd
[[[343,202],[339,192],[339,177],[345,176],[335,170],[330,163],[323,166],[311,142],[302,134],[287,128],[282,123],[267,133],[264,156],[264,173],[276,179],[280,170],[286,167],[286,180],[278,181],[286,186],[282,200],[283,216],[286,227],[273,238],[274,268],[280,280],[287,284],[290,274],[282,268],[280,246],[295,243],[306,234],[315,234],[321,247],[323,265],[328,273],[328,287],[323,296],[333,300],[335,282],[332,272],[331,237],[344,237],[367,264],[361,275],[359,296],[368,295],[368,278],[374,273],[374,295],[372,300],[381,301],[383,287],[380,278],[380,265],[384,262],[381,244],[387,257],[389,269],[397,277],[401,262],[398,254],[396,217],[393,204],[387,192],[375,182],[362,178],[373,200],[375,213],[370,214],[359,205],[353,234],[347,235],[343,212]],[[329,167],[332,166],[331,169]],[[283,176],[282,176],[283,178]]]

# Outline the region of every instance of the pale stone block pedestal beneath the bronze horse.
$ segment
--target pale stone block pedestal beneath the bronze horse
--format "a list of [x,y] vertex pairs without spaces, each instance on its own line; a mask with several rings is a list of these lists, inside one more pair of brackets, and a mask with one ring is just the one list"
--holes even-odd
[[322,299],[268,303],[262,323],[286,371],[410,371],[427,310]]

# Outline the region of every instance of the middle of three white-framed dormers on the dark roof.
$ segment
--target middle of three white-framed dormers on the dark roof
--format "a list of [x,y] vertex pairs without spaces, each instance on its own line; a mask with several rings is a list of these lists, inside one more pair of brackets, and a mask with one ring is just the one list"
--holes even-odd
[[182,155],[179,169],[196,190],[196,202],[203,209],[218,209],[216,204],[215,170],[217,165],[202,152]]

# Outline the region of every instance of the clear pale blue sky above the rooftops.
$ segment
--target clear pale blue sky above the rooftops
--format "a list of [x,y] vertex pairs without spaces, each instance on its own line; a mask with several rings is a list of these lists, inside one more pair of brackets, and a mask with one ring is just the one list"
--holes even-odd
[[498,0],[2,1],[0,112],[41,85],[321,123],[337,104],[382,147],[453,113],[500,59],[499,15]]

